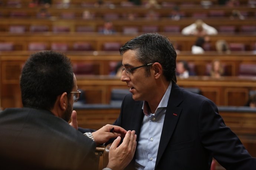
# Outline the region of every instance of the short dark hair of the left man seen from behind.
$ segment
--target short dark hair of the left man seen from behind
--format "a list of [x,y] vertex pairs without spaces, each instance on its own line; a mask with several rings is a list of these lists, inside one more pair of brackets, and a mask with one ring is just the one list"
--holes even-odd
[[55,51],[30,55],[22,69],[20,88],[24,107],[53,108],[56,98],[73,88],[71,61]]

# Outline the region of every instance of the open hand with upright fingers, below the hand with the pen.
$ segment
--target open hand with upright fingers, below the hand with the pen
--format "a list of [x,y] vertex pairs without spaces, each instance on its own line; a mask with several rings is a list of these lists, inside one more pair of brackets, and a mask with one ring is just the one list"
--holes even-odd
[[107,168],[112,170],[124,169],[134,156],[137,145],[136,139],[137,135],[135,135],[135,131],[128,130],[123,142],[118,146],[121,141],[121,137],[118,136],[109,148],[109,162]]

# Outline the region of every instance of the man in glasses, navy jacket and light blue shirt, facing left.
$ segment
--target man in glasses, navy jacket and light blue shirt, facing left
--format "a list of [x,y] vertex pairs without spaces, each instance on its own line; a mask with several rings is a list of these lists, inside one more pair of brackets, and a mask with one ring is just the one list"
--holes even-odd
[[114,125],[135,130],[137,149],[128,169],[209,170],[214,157],[228,170],[256,169],[217,106],[176,82],[176,52],[167,37],[143,34],[120,48],[125,96]]

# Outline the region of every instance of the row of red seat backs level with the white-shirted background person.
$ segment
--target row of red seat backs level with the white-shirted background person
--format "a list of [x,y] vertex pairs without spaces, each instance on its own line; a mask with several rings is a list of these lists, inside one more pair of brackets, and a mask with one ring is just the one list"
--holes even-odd
[[[97,30],[91,26],[78,26],[76,27],[76,32],[79,33],[86,33],[86,32],[100,32],[102,30],[102,26],[98,27]],[[165,33],[180,33],[181,27],[178,25],[166,25],[163,27],[163,32]],[[236,26],[219,26],[217,28],[219,33],[256,33],[256,26],[253,25],[242,25],[240,28],[237,28]],[[8,30],[6,30],[8,31]],[[46,25],[31,25],[29,27],[29,30],[26,30],[26,26],[21,25],[13,25],[9,27],[10,33],[25,33],[26,31],[30,32],[47,32],[52,31],[53,33],[63,33],[63,32],[71,32],[71,29],[69,26],[52,26],[51,30]],[[159,32],[160,28],[157,25],[151,25],[151,26],[123,26],[122,27],[122,33],[124,34],[137,34],[139,32],[141,33],[150,33],[150,32]]]

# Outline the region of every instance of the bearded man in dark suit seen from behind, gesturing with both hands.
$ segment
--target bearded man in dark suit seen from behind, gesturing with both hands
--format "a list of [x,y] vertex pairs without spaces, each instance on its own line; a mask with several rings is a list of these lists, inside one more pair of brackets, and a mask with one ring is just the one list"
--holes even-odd
[[68,57],[54,51],[32,54],[22,69],[20,88],[24,107],[0,112],[1,169],[96,170],[96,145],[112,137],[106,169],[129,164],[136,147],[134,130],[105,125],[92,133],[78,131],[73,103],[80,92]]

